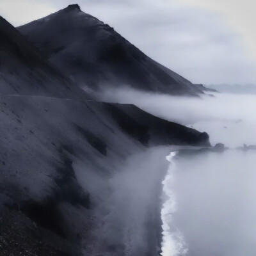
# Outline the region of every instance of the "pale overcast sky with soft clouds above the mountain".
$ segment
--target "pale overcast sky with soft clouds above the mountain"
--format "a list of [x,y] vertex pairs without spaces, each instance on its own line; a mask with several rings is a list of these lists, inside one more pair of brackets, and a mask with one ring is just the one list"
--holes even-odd
[[0,0],[15,26],[78,3],[194,83],[256,84],[253,0]]

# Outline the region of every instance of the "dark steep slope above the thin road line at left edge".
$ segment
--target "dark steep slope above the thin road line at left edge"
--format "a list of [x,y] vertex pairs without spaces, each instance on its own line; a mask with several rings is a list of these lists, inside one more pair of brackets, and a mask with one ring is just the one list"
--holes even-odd
[[[0,17],[0,93],[75,97],[85,93]],[[84,96],[83,96],[84,95]]]

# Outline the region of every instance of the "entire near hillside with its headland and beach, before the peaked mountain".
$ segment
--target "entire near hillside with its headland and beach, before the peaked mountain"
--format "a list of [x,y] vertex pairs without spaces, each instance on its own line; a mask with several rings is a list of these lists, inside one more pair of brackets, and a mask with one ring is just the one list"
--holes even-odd
[[161,146],[208,146],[207,134],[87,100],[0,25],[1,255],[156,255]]

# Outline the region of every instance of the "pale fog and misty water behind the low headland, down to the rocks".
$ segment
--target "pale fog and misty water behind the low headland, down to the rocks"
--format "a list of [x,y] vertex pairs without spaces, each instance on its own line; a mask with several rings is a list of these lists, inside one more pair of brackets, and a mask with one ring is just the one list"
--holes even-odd
[[174,97],[132,89],[105,92],[107,101],[131,103],[166,120],[206,131],[211,143],[236,148],[256,145],[256,95],[210,93],[201,97]]

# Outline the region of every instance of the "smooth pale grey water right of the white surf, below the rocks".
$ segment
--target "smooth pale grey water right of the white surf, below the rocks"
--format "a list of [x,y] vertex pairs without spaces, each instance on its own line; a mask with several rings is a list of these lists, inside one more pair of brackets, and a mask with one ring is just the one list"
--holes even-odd
[[[227,151],[176,159],[175,225],[188,255],[250,256],[256,252],[254,152]],[[180,254],[165,254],[164,256]]]

